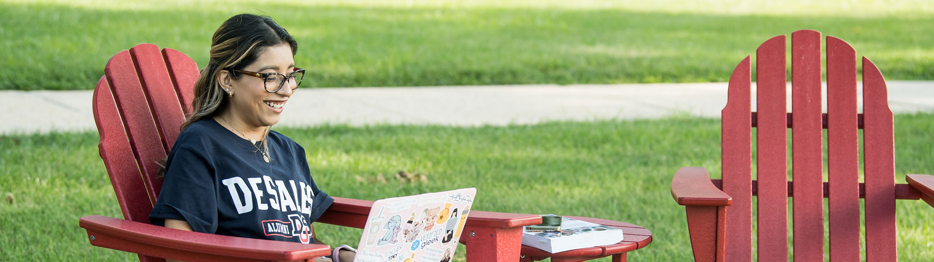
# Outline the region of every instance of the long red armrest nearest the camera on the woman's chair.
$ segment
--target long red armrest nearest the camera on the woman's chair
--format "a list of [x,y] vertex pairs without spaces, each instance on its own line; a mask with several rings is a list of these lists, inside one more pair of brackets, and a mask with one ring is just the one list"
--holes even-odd
[[292,261],[331,255],[331,247],[163,228],[101,215],[81,217],[92,245],[189,261]]

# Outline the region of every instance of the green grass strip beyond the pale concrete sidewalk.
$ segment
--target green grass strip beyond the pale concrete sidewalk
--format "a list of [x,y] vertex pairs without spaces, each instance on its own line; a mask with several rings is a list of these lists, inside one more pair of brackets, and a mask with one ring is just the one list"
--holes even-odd
[[214,30],[243,12],[297,38],[315,87],[726,81],[769,37],[806,28],[888,79],[934,79],[932,1],[330,2],[0,0],[0,90],[90,90],[139,43],[203,65]]

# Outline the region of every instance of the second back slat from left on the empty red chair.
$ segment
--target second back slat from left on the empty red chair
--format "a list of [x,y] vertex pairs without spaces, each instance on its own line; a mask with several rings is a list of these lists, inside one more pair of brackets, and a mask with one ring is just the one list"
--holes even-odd
[[779,35],[756,50],[758,261],[788,261],[785,77],[785,35]]

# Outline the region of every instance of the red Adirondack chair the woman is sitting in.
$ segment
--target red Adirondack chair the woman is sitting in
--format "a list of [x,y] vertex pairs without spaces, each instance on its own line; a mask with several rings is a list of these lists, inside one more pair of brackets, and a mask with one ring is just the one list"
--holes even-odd
[[[149,224],[162,180],[155,177],[191,112],[197,65],[181,52],[150,44],[123,50],[107,62],[93,94],[100,154],[124,219],[80,218],[92,245],[139,254],[140,261],[311,261],[329,247],[235,238]],[[373,201],[334,198],[317,222],[363,228]],[[469,261],[517,261],[522,226],[542,223],[537,214],[473,211],[460,241]]]

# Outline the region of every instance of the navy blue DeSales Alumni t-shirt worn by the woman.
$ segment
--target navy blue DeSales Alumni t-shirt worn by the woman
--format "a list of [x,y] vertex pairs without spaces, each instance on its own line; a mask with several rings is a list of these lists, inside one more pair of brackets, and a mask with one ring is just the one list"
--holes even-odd
[[301,145],[277,131],[266,139],[268,163],[214,118],[192,123],[169,153],[149,221],[164,226],[164,219],[176,219],[197,232],[314,242],[310,225],[333,198],[315,185]]

